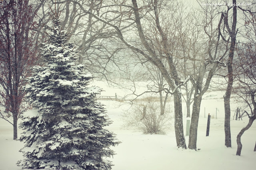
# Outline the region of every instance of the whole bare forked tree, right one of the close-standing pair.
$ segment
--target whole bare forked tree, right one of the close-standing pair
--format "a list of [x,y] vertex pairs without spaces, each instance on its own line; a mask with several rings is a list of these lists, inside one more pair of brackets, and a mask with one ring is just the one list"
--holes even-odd
[[205,6],[202,10],[202,14],[204,14],[202,15],[204,17],[204,25],[202,26],[206,35],[206,42],[208,43],[204,55],[201,60],[199,60],[198,65],[195,65],[195,67],[198,67],[198,73],[190,79],[194,85],[195,92],[188,148],[194,150],[196,150],[197,128],[202,96],[208,90],[210,81],[218,67],[226,66],[223,61],[228,51],[227,43],[223,43],[220,32],[224,16],[222,15],[220,17],[218,25],[215,26],[214,19],[218,16],[216,9],[213,6]]

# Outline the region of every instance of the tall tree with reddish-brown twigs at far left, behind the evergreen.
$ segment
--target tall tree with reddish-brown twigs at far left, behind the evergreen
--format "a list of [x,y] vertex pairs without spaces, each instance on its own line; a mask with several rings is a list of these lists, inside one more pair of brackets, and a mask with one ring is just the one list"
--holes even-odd
[[35,11],[28,0],[3,0],[0,5],[0,105],[5,108],[0,117],[13,125],[16,139],[17,121],[28,109],[21,105],[25,95],[22,85],[36,59],[32,42]]

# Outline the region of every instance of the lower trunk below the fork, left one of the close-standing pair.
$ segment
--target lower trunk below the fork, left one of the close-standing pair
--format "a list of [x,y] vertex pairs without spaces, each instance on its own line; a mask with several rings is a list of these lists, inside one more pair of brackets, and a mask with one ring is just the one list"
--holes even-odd
[[183,131],[183,121],[182,121],[182,104],[181,104],[181,94],[180,91],[176,90],[173,93],[174,96],[174,128],[176,135],[176,143],[178,148],[182,147],[184,149],[187,148],[186,140]]

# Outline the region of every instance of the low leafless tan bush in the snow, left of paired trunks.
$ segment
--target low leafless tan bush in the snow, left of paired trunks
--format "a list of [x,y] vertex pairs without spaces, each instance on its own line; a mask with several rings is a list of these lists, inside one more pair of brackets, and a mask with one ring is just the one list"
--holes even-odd
[[[146,115],[143,117],[143,108]],[[165,111],[160,115],[160,103],[156,101],[136,102],[123,114],[124,128],[132,128],[146,134],[166,134],[171,127],[171,115]]]

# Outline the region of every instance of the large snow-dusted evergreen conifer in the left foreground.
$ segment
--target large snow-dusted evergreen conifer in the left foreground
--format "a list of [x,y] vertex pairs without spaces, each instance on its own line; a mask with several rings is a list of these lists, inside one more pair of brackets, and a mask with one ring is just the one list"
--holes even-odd
[[103,128],[111,121],[95,98],[101,89],[88,86],[93,76],[76,62],[79,52],[60,25],[53,14],[41,53],[45,64],[33,67],[25,88],[38,110],[24,115],[20,124],[24,160],[17,164],[28,169],[110,170],[111,162],[103,158],[114,155],[110,146],[119,142]]

